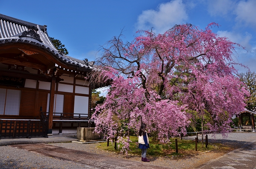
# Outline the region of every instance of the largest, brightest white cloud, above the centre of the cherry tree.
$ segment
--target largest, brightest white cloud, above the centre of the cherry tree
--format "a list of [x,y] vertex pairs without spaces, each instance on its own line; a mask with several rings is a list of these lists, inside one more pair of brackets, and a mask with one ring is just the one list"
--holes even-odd
[[182,0],[172,0],[162,3],[157,10],[144,10],[137,20],[139,30],[150,30],[163,33],[172,28],[175,24],[182,24],[188,15]]

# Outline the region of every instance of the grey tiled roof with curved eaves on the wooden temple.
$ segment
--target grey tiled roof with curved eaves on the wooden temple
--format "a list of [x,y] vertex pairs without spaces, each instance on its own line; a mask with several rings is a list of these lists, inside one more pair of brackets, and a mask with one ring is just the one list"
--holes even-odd
[[48,50],[65,64],[77,66],[87,72],[92,70],[93,62],[84,62],[59,52],[50,41],[46,27],[0,14],[0,45],[28,43]]

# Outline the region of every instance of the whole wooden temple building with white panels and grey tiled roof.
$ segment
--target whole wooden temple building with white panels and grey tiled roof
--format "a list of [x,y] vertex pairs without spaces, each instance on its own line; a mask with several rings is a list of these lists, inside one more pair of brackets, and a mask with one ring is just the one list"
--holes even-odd
[[46,25],[0,14],[0,138],[89,127],[92,69],[58,51]]

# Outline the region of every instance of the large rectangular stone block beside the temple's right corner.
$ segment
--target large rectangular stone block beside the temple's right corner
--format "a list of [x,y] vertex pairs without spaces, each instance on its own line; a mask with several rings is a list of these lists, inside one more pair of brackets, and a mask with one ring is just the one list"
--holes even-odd
[[77,127],[77,139],[78,140],[100,140],[102,134],[94,133],[94,127]]

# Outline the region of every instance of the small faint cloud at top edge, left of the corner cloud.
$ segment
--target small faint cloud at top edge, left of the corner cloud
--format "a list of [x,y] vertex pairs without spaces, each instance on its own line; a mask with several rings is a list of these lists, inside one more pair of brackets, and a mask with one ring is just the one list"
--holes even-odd
[[235,8],[234,0],[208,0],[208,12],[211,16],[226,16]]

